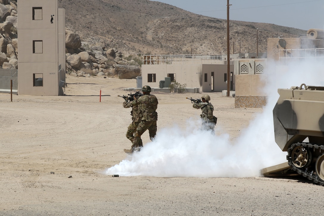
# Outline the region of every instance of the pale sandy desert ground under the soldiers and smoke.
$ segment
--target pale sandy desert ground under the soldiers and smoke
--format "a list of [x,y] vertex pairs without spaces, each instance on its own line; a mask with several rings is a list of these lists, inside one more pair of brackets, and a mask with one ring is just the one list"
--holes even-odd
[[[324,187],[283,178],[112,177],[131,143],[123,88],[136,80],[67,75],[65,96],[0,93],[0,215],[321,215]],[[101,102],[99,92],[101,89]],[[199,115],[186,97],[154,93],[161,128]],[[262,109],[209,93],[217,126],[237,138]],[[179,110],[188,107],[179,114]],[[148,133],[143,143],[150,142]],[[145,147],[144,147],[145,148]],[[52,173],[51,173],[52,172]],[[72,176],[69,178],[69,176]]]

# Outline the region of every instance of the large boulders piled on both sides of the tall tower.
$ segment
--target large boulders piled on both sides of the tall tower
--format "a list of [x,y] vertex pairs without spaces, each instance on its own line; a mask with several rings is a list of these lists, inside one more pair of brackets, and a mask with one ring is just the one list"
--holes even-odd
[[[0,69],[18,69],[17,1],[0,0]],[[141,74],[135,61],[127,61],[117,49],[81,42],[65,31],[66,71],[75,76],[111,76],[125,79]]]

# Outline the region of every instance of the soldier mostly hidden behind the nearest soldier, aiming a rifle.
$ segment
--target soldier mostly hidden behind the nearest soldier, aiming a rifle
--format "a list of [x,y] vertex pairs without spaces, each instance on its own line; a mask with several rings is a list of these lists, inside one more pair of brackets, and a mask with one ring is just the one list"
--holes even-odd
[[[124,98],[125,101],[123,102],[122,106],[124,108],[130,108],[132,107],[132,111],[131,111],[131,115],[132,115],[132,123],[128,126],[127,132],[126,132],[126,137],[127,139],[131,140],[131,142],[133,143],[134,141],[134,133],[136,131],[136,128],[138,126],[138,124],[141,122],[142,120],[142,114],[141,114],[141,110],[138,108],[138,106],[133,106],[132,105],[132,101],[128,102],[127,97]],[[134,96],[134,100],[135,100],[135,96]],[[142,139],[140,138],[139,142],[138,142],[139,147],[143,147],[143,142]]]

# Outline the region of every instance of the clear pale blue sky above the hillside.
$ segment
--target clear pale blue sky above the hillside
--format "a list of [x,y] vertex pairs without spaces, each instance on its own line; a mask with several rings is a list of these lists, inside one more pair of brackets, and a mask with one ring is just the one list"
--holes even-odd
[[[227,19],[227,0],[158,0],[181,9]],[[229,19],[302,30],[324,29],[324,0],[229,0]]]

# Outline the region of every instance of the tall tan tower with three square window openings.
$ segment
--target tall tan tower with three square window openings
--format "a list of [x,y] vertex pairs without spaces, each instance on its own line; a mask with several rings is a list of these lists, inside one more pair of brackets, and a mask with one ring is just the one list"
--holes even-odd
[[65,10],[57,0],[18,1],[18,94],[62,95]]

